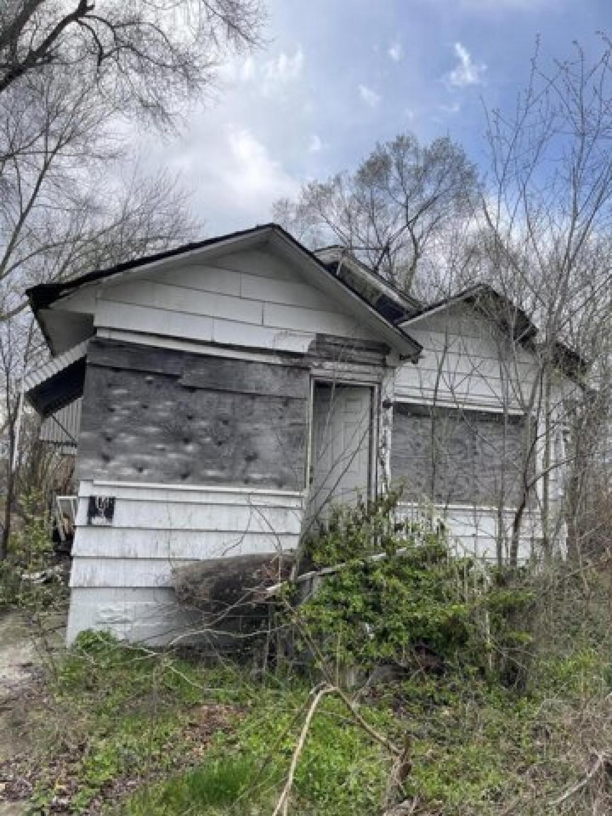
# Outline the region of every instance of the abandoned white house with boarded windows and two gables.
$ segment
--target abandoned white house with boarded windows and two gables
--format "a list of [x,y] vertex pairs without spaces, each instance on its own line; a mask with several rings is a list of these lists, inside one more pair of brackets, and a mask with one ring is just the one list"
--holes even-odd
[[29,299],[52,357],[27,397],[76,449],[69,640],[169,636],[175,565],[290,550],[326,503],[394,482],[469,552],[499,557],[514,526],[526,557],[542,535],[535,330],[486,286],[423,308],[268,224]]

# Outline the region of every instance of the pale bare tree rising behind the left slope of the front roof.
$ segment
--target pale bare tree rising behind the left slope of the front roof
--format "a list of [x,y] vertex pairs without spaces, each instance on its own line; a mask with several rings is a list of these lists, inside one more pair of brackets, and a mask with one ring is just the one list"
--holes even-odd
[[[20,382],[41,346],[24,290],[162,250],[193,236],[184,191],[165,174],[130,169],[95,87],[64,69],[24,78],[0,95],[2,420],[7,439],[6,551],[19,479]],[[27,342],[26,342],[27,340]]]

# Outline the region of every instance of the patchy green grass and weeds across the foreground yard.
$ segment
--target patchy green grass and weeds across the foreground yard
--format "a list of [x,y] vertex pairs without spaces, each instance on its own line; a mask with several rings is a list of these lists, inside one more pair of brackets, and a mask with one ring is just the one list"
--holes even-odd
[[[567,615],[563,632],[577,617]],[[612,745],[604,617],[601,628],[588,623],[588,636],[576,630],[542,648],[527,690],[446,665],[361,695],[361,716],[410,747],[403,787],[415,814],[612,812],[608,765],[551,804]],[[228,664],[206,667],[86,634],[30,716],[38,746],[29,758],[33,813],[269,816],[309,692],[306,679],[273,672],[255,679]],[[289,812],[381,814],[390,769],[384,748],[343,703],[324,698],[299,759]]]

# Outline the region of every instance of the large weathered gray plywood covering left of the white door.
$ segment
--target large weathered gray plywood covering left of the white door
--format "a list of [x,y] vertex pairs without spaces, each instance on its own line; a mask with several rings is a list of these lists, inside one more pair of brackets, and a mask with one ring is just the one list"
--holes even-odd
[[302,490],[309,371],[93,339],[78,477]]

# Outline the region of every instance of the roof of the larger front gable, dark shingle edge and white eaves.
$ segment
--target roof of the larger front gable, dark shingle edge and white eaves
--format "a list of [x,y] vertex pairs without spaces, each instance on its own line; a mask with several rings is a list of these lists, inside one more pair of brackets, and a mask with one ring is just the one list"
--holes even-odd
[[172,250],[132,259],[122,264],[116,264],[110,268],[95,270],[94,272],[75,277],[68,281],[43,283],[38,286],[32,286],[29,290],[26,290],[26,295],[29,299],[30,308],[32,308],[42,333],[45,339],[47,339],[47,344],[53,349],[52,338],[48,335],[45,326],[45,310],[51,308],[51,306],[60,301],[60,299],[68,297],[82,289],[82,287],[105,282],[113,277],[131,273],[132,271],[147,267],[151,264],[160,264],[174,258],[184,258],[202,251],[224,251],[226,247],[231,247],[232,251],[237,251],[264,242],[271,242],[283,251],[290,253],[294,259],[302,264],[308,274],[312,274],[315,278],[318,277],[319,281],[327,288],[329,288],[330,282],[333,282],[332,286],[335,287],[337,294],[344,299],[344,303],[347,304],[348,308],[357,310],[360,316],[375,327],[375,329],[379,331],[379,334],[382,335],[393,348],[397,348],[403,357],[408,357],[413,361],[419,357],[422,347],[415,339],[410,337],[401,326],[397,326],[396,323],[381,312],[379,308],[376,308],[375,304],[370,303],[369,299],[366,299],[361,292],[353,288],[353,286],[350,286],[347,281],[336,276],[333,271],[323,263],[322,259],[319,259],[317,255],[296,241],[290,233],[287,233],[286,230],[278,224],[273,223],[262,224],[238,232],[207,238],[200,242],[184,244]]

